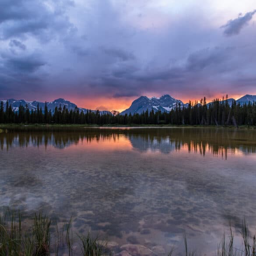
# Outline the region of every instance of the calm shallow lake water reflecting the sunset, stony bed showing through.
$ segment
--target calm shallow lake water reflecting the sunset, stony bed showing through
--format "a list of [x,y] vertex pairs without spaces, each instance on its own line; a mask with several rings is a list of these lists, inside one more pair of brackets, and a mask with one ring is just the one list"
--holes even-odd
[[[215,255],[229,221],[256,227],[256,131],[2,129],[0,205],[91,229],[119,246]],[[241,242],[237,242],[237,246]],[[162,252],[164,252],[162,250]],[[158,252],[159,254],[160,252]]]

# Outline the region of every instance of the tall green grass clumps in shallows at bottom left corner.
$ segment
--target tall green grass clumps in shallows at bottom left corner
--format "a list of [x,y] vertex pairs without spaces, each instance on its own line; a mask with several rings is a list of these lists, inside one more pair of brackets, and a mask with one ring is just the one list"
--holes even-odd
[[[30,226],[24,226],[22,216],[14,210],[6,209],[0,215],[0,256],[55,256],[73,255],[72,218],[62,228],[55,224],[50,232],[52,221],[42,213],[35,214]],[[102,256],[106,245],[100,244],[90,232],[81,241],[82,256]]]

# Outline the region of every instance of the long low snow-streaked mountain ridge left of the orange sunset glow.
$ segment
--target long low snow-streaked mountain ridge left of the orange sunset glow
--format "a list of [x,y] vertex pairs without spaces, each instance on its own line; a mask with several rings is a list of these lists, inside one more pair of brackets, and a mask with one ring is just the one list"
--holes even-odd
[[[4,102],[4,109],[5,109],[7,101],[3,100],[3,102]],[[9,103],[9,105],[11,104],[14,111],[18,111],[20,105],[25,107],[26,104],[28,105],[29,110],[32,110],[32,109],[36,110],[37,105],[39,105],[39,108],[40,107],[42,108],[42,111],[44,111],[44,108],[45,108],[45,102],[38,102],[38,101],[27,102],[25,100],[15,100],[12,98],[12,99],[8,99],[8,103]],[[71,110],[71,109],[74,110],[77,107],[76,104],[74,104],[66,99],[63,99],[63,98],[58,98],[58,99],[54,100],[53,102],[46,102],[46,105],[47,105],[48,110],[51,110],[52,112],[54,112],[54,109],[56,107],[59,108],[60,105],[62,108],[65,106],[66,109],[68,109],[68,110]],[[80,112],[81,111],[87,112],[89,110],[89,109],[84,109],[84,108],[78,108],[78,109]],[[95,112],[96,110],[91,110],[91,111]],[[112,115],[112,113],[109,111],[100,111],[100,114],[111,114]]]

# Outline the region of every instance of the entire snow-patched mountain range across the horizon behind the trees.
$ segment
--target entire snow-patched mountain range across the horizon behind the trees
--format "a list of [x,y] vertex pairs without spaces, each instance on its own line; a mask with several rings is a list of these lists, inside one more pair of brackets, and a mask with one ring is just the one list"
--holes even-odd
[[[1,100],[0,100],[1,101]],[[256,102],[256,95],[245,95],[237,100],[234,98],[229,98],[228,99],[228,104],[231,105],[233,101],[236,101],[236,103],[240,103],[241,105],[243,104],[248,104],[249,102]],[[4,108],[6,108],[6,100],[3,100],[4,102]],[[33,101],[33,102],[28,102],[25,100],[15,100],[15,99],[8,99],[9,105],[12,105],[12,108],[14,111],[18,111],[19,106],[26,106],[28,105],[29,110],[35,110],[37,109],[37,106],[39,105],[39,108],[42,107],[42,110],[44,110],[45,107],[45,102],[38,102],[38,101]],[[154,111],[161,110],[161,112],[170,112],[172,109],[175,108],[176,105],[181,105],[182,108],[187,107],[188,103],[183,103],[181,100],[175,99],[170,95],[163,95],[161,97],[152,97],[148,98],[147,96],[140,96],[136,100],[134,100],[130,106],[129,109],[124,110],[123,112],[120,113],[120,115],[125,115],[125,114],[134,114],[138,113],[141,114],[142,112],[151,111],[154,109]],[[208,103],[210,104],[210,103]],[[70,109],[75,109],[78,108],[76,104],[63,99],[59,98],[54,100],[53,102],[46,102],[48,110],[51,110],[54,112],[54,109],[57,107],[59,108],[60,105],[63,108],[66,106],[68,110]],[[79,111],[87,112],[89,109],[84,109],[84,108],[78,108]],[[95,112],[96,110],[91,110]],[[113,110],[112,112],[109,111],[100,111],[100,114],[110,114],[116,116],[119,114],[118,111]]]

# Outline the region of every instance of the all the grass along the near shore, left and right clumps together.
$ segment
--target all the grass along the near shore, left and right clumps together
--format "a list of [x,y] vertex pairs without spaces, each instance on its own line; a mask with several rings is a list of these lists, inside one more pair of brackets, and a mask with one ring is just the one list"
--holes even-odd
[[[55,227],[54,230],[52,227]],[[98,238],[76,235],[80,252],[73,250],[74,236],[72,221],[62,224],[53,223],[42,213],[35,214],[30,224],[25,223],[19,212],[7,209],[0,215],[0,256],[50,256],[50,255],[111,255],[107,243],[99,242]],[[241,230],[242,248],[235,248],[234,234],[230,227],[228,238],[223,235],[217,248],[217,256],[256,256],[256,238],[249,235],[245,220]],[[189,251],[186,234],[183,234],[184,256],[196,256],[196,251]],[[123,255],[122,252],[116,255]],[[129,252],[124,255],[130,255]],[[132,254],[133,255],[133,254]],[[153,254],[152,254],[153,255]],[[171,248],[168,256],[175,255]]]

